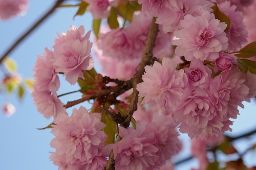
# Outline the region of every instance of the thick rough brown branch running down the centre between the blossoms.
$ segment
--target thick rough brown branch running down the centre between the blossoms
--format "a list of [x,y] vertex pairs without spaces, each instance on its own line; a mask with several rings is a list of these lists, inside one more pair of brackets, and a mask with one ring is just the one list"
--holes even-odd
[[[146,47],[143,53],[143,57],[141,60],[141,63],[138,67],[138,70],[136,72],[136,74],[134,75],[133,79],[132,79],[132,84],[133,84],[133,94],[132,94],[132,101],[128,110],[128,117],[126,118],[126,120],[124,121],[123,124],[121,124],[122,127],[127,128],[130,125],[132,116],[134,111],[137,110],[137,104],[138,104],[138,90],[136,89],[137,84],[142,82],[142,75],[145,71],[144,67],[146,65],[151,65],[153,64],[154,60],[153,60],[153,48],[155,46],[155,42],[156,42],[156,37],[157,37],[157,33],[158,33],[158,25],[155,23],[156,18],[152,19],[151,22],[151,26],[150,29],[148,30],[148,34],[147,34],[147,41],[146,41]],[[119,137],[118,140],[121,140],[121,138]],[[108,163],[106,163],[106,166],[104,167],[104,170],[114,170],[115,169],[115,160],[114,160],[114,152],[113,150],[111,151],[110,157],[109,157],[109,161]]]

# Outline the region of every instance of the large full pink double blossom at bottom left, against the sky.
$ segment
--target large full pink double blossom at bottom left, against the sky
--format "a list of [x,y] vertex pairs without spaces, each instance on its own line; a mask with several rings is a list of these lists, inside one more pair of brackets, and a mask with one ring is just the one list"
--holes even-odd
[[90,114],[82,106],[74,109],[71,117],[58,115],[51,141],[51,147],[56,149],[50,157],[54,164],[60,169],[102,169],[106,163],[102,155],[106,134],[101,131],[105,125],[100,118],[100,113]]

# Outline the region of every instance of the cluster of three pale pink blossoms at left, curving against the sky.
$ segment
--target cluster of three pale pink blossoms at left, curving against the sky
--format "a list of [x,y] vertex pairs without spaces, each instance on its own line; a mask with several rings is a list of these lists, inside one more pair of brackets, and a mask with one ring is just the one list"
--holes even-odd
[[35,83],[32,97],[38,111],[46,118],[65,113],[63,103],[57,98],[56,91],[60,87],[58,73],[66,76],[66,80],[75,84],[83,78],[83,70],[90,70],[94,65],[91,57],[92,43],[90,32],[85,36],[84,28],[71,26],[67,33],[59,35],[53,46],[54,51],[45,49],[42,56],[37,56],[33,71]]

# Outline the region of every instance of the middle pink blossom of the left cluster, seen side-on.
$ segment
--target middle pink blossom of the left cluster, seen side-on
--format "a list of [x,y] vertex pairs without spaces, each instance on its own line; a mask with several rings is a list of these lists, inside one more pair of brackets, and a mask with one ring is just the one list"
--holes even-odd
[[55,61],[53,52],[45,48],[42,56],[37,56],[33,71],[35,71],[35,83],[33,85],[36,91],[56,92],[59,89],[60,82],[57,72],[53,68]]

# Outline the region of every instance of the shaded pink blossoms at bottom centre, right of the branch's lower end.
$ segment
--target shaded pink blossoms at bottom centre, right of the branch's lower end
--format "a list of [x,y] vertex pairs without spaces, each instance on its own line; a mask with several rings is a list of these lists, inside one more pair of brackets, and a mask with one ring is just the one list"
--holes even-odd
[[137,122],[136,130],[120,127],[122,140],[115,143],[116,169],[159,168],[181,148],[172,117],[156,115],[152,123]]

